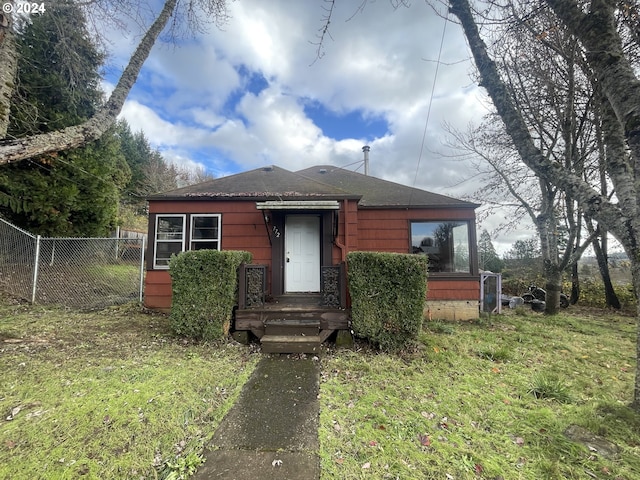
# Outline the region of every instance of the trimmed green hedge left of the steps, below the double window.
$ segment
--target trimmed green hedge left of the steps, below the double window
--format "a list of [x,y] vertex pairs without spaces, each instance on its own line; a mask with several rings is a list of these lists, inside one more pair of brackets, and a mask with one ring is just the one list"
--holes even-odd
[[249,252],[194,250],[172,256],[171,328],[178,335],[216,340],[229,333],[237,303],[238,267]]

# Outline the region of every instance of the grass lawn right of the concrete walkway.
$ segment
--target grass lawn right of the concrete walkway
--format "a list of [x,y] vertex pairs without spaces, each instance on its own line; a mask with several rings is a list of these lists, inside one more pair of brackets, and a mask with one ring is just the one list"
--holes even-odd
[[[633,318],[572,308],[452,325],[427,322],[402,356],[323,358],[322,479],[640,478]],[[570,425],[618,456],[570,440]]]

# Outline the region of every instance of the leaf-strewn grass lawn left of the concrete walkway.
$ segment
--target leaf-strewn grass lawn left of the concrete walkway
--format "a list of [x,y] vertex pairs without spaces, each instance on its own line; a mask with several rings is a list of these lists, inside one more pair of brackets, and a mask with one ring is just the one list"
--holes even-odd
[[135,305],[0,303],[0,478],[178,478],[256,359],[171,336]]

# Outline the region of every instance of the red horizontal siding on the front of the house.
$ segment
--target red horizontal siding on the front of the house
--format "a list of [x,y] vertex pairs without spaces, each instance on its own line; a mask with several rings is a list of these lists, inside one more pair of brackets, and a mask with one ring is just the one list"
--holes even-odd
[[[166,270],[153,270],[155,216],[162,213],[219,213],[222,215],[223,250],[247,250],[253,263],[267,265],[271,272],[272,247],[263,212],[249,200],[152,201],[149,204],[149,255],[145,279],[145,305],[167,309],[171,306],[171,278]],[[475,220],[471,208],[435,209],[358,209],[355,200],[340,201],[337,236],[329,245],[333,264],[346,259],[349,251],[408,253],[409,225],[412,220]],[[471,243],[476,243],[475,228],[470,229]],[[279,258],[276,256],[276,258]],[[472,251],[472,264],[477,265]],[[279,262],[279,261],[278,261]],[[326,263],[326,262],[325,262]],[[280,269],[280,265],[276,265]],[[271,273],[267,275],[269,282]],[[428,281],[428,300],[477,301],[480,298],[478,272],[471,275],[432,274]],[[269,288],[271,286],[269,285]]]

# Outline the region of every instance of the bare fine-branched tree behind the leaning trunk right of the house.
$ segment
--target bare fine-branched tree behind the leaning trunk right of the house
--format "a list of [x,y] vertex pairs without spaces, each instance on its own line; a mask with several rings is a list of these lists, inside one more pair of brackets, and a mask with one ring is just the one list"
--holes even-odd
[[[492,19],[495,20],[495,19]],[[495,58],[505,88],[547,162],[590,181],[598,169],[593,92],[579,67],[581,51],[574,37],[556,24],[551,12],[526,21],[493,23],[488,51]],[[520,158],[500,118],[489,114],[466,133],[453,132],[453,147],[470,153],[485,184],[474,199],[496,198],[517,207],[511,221],[526,216],[538,232],[546,278],[546,312],[556,313],[563,272],[574,270],[591,238],[582,238],[582,211],[573,198],[536,176]],[[486,167],[489,168],[486,168]],[[510,226],[512,224],[507,224]],[[595,235],[595,232],[592,233]]]

